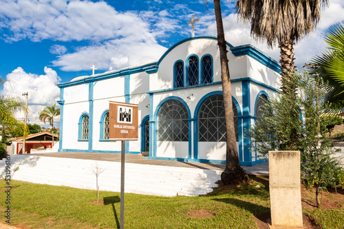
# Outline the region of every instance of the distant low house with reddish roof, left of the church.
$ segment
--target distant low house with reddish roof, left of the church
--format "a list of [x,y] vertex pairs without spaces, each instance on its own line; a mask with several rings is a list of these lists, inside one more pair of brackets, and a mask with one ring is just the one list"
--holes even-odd
[[[54,134],[54,144],[58,135]],[[23,154],[23,137],[11,138],[8,141],[12,142],[12,149],[10,154]],[[26,137],[25,152],[30,154],[31,149],[47,149],[52,147],[52,134],[50,132],[40,132],[37,134],[30,134]]]

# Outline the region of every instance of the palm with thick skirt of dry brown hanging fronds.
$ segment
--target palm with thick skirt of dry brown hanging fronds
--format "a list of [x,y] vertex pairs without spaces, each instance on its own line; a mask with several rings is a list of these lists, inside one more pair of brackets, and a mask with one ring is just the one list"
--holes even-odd
[[279,45],[283,91],[294,89],[284,80],[294,73],[293,45],[315,29],[321,7],[327,5],[328,0],[237,0],[235,10],[241,21],[250,23],[251,36],[268,47]]

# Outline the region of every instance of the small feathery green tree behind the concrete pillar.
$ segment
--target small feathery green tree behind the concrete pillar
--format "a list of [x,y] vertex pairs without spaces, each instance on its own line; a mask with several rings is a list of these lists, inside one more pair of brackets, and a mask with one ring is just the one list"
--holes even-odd
[[[316,188],[316,204],[321,206],[321,190],[344,184],[344,173],[334,157],[336,149],[326,128],[325,111],[330,104],[323,99],[326,91],[319,87],[323,83],[319,77],[295,73],[294,79],[297,97],[277,93],[277,97],[268,99],[261,108],[261,121],[250,128],[248,136],[252,137],[251,149],[261,156],[269,150],[300,150],[302,178],[307,186]],[[296,109],[299,115],[293,115],[295,110],[290,109]],[[297,130],[294,137],[290,137],[291,130]]]

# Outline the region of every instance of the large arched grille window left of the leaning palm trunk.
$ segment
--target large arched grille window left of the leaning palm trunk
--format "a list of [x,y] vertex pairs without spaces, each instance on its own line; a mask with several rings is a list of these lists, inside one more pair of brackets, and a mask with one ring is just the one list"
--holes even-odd
[[181,101],[171,99],[158,113],[158,141],[189,141],[188,112]]

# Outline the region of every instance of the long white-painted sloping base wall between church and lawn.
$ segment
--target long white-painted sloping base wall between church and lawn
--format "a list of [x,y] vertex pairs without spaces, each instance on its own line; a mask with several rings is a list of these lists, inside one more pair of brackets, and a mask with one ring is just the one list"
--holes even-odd
[[[94,190],[96,176],[92,170],[98,165],[105,169],[98,177],[100,190],[120,192],[120,162],[13,155],[10,157],[10,163],[11,169],[19,167],[14,173],[14,180]],[[0,161],[3,177],[5,167],[3,159]],[[125,193],[203,195],[213,191],[212,188],[217,186],[215,182],[220,180],[221,173],[219,170],[126,163]]]

